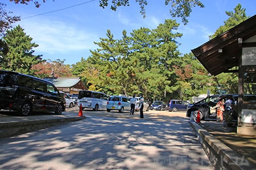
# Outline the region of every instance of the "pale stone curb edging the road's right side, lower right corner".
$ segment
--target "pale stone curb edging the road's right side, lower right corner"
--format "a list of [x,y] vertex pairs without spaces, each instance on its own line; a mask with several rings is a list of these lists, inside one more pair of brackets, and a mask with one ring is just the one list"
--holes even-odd
[[189,122],[195,130],[197,138],[204,148],[214,169],[256,169],[256,167],[220,140],[215,138],[207,130],[195,122]]

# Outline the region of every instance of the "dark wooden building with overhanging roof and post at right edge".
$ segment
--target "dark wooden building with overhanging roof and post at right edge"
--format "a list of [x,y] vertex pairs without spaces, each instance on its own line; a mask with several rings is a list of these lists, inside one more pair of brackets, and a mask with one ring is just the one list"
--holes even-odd
[[255,135],[256,101],[243,94],[256,92],[256,15],[191,51],[212,75],[238,73],[237,133]]

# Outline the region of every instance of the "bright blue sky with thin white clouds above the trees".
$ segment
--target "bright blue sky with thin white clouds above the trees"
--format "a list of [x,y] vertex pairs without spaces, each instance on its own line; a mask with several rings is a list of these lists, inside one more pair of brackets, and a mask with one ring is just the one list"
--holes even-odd
[[34,48],[34,54],[42,54],[43,59],[65,59],[65,64],[75,64],[82,57],[89,57],[89,50],[98,48],[93,42],[105,38],[107,29],[113,33],[114,39],[121,39],[123,29],[127,33],[141,27],[154,29],[165,19],[176,19],[180,23],[178,32],[183,33],[177,39],[181,43],[179,51],[185,54],[207,42],[208,36],[228,19],[225,11],[234,11],[238,3],[246,9],[247,16],[256,13],[255,0],[202,0],[205,7],[193,8],[189,23],[184,25],[181,19],[171,18],[170,7],[164,5],[164,0],[148,0],[146,18],[134,0],[130,0],[130,6],[119,7],[117,11],[110,10],[110,7],[101,8],[98,0],[48,0],[40,8],[34,3],[15,5],[9,0],[2,2],[7,5],[6,11],[13,11],[13,15],[23,18],[15,24],[20,24],[33,38],[32,42],[39,45]]

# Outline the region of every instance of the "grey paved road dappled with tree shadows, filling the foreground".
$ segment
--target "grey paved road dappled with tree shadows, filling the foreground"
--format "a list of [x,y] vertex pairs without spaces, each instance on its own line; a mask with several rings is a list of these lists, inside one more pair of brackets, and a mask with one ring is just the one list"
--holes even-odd
[[[64,114],[78,114],[78,108]],[[85,119],[0,141],[0,169],[214,169],[185,112],[83,111]]]

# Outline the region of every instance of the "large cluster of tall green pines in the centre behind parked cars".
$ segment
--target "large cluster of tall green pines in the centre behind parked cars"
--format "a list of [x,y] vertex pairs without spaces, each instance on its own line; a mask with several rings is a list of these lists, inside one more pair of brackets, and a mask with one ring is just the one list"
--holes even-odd
[[[89,88],[108,94],[133,95],[166,99],[177,85],[173,65],[179,61],[175,20],[166,20],[156,29],[140,28],[130,36],[123,31],[122,39],[114,39],[110,30],[106,38],[94,42],[99,46],[92,56],[77,63],[73,73],[84,77]],[[79,69],[77,71],[76,69]]]

